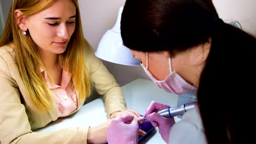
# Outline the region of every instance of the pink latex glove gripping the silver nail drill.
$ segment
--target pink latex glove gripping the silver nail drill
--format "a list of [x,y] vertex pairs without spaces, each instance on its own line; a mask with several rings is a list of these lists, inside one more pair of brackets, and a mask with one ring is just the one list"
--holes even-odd
[[165,118],[156,112],[168,108],[170,108],[170,106],[158,103],[156,101],[152,101],[144,115],[144,117],[147,117],[148,121],[150,121],[154,127],[158,127],[159,133],[161,134],[162,139],[164,139],[166,143],[169,142],[170,131],[175,121],[173,117]]

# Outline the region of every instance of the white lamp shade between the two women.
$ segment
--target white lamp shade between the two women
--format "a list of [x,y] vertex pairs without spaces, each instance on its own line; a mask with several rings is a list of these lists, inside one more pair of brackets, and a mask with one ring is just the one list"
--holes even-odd
[[139,66],[141,61],[134,58],[131,51],[123,45],[123,40],[120,34],[122,11],[123,7],[119,9],[118,19],[115,26],[112,29],[109,29],[101,38],[95,55],[104,61],[123,65]]

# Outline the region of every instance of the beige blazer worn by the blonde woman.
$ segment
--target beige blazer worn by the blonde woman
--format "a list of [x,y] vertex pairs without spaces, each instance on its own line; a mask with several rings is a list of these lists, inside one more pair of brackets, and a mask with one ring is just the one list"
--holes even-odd
[[[0,144],[86,143],[90,123],[85,123],[85,127],[33,133],[33,130],[45,127],[58,118],[57,108],[53,104],[53,109],[44,113],[31,103],[19,74],[14,51],[13,45],[0,47]],[[125,110],[123,93],[114,77],[93,51],[86,54],[86,58],[94,87],[103,95],[107,115]],[[78,109],[83,104],[84,100],[79,101]]]

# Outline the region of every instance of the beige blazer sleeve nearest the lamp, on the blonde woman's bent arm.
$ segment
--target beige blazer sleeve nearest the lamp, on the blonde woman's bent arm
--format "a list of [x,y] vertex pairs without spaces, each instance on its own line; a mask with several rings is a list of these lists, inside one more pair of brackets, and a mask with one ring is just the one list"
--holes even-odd
[[88,48],[86,62],[88,62],[92,83],[98,94],[103,95],[107,116],[110,116],[115,111],[127,109],[123,91],[113,75],[109,73],[101,60],[94,55],[94,50],[89,44],[86,48]]

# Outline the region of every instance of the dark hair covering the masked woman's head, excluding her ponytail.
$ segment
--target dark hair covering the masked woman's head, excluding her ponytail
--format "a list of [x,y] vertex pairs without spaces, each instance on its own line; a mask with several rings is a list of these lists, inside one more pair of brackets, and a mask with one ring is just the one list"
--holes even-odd
[[207,41],[218,14],[211,1],[140,0],[126,1],[121,17],[124,45],[150,52],[187,49]]

